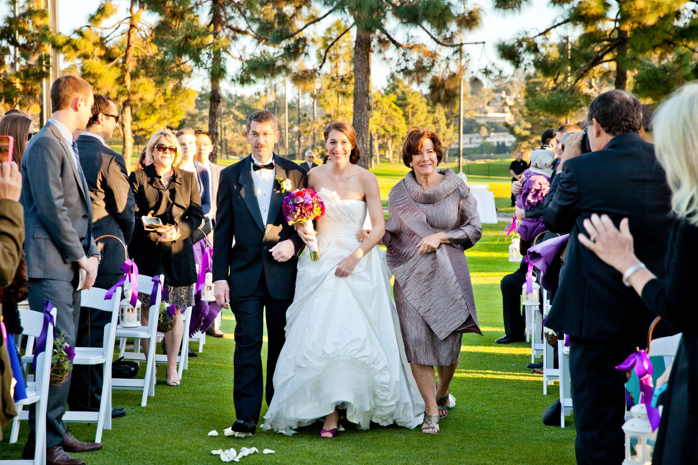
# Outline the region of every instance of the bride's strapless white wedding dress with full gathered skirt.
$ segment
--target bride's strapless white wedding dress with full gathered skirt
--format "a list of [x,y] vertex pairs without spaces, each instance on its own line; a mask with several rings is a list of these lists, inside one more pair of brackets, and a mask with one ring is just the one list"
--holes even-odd
[[348,277],[334,275],[359,246],[366,202],[342,200],[325,188],[318,194],[326,206],[316,227],[320,260],[306,252],[298,261],[262,428],[290,435],[339,404],[362,429],[370,422],[417,427],[424,402],[405,356],[385,252],[374,247]]

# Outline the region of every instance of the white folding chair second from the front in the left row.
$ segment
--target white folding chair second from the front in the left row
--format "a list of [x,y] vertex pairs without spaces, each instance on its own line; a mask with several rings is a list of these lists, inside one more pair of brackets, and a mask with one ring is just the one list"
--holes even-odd
[[[112,429],[112,359],[114,358],[114,340],[116,339],[121,288],[117,287],[110,300],[104,300],[106,289],[93,287],[82,291],[80,305],[103,312],[112,312],[112,319],[104,327],[104,341],[101,347],[75,347],[73,365],[103,365],[102,399],[99,411],[67,411],[64,422],[96,423],[95,442],[102,441],[104,429]],[[31,362],[31,356],[22,357],[22,362]],[[21,418],[24,420],[24,418]]]

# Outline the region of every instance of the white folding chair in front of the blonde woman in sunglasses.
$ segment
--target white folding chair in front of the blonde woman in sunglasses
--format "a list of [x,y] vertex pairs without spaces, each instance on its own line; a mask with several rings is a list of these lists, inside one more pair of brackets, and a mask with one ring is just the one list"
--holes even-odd
[[[158,286],[155,300],[151,299],[149,310],[148,326],[138,326],[138,328],[117,328],[119,337],[119,357],[128,360],[146,360],[145,376],[143,379],[112,379],[112,389],[142,390],[140,406],[146,406],[148,396],[155,395],[155,346],[158,334],[158,316],[160,314],[160,303],[162,300],[161,289],[165,285],[165,276],[160,275],[160,285]],[[150,276],[138,276],[138,289],[150,292],[153,288],[153,280]],[[126,352],[126,338],[133,337],[133,352]],[[140,341],[148,341],[148,354],[140,352]]]

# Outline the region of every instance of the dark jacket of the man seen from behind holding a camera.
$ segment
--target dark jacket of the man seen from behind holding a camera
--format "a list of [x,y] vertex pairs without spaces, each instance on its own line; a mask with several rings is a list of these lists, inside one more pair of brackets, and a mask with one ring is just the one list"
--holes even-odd
[[664,277],[667,240],[673,224],[666,175],[654,146],[637,133],[618,135],[603,150],[565,162],[554,178],[544,221],[550,231],[571,231],[560,287],[546,326],[586,340],[646,344],[654,317],[621,273],[579,243],[583,221],[606,213],[618,226],[630,220],[635,254]]

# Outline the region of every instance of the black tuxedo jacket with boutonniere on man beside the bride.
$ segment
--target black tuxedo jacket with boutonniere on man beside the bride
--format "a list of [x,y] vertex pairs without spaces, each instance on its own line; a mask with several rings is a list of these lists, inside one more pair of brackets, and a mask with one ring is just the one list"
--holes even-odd
[[[272,192],[267,224],[255,197],[251,172],[252,155],[221,171],[218,182],[216,234],[214,234],[214,282],[228,280],[231,296],[249,296],[265,273],[267,289],[273,298],[292,298],[295,291],[297,256],[304,243],[295,229],[283,219],[279,192]],[[306,171],[297,163],[274,154],[276,176],[291,180],[292,190],[306,188]],[[274,181],[274,190],[279,190]],[[235,238],[235,245],[233,245]],[[290,239],[295,256],[288,261],[274,260],[269,249]]]

